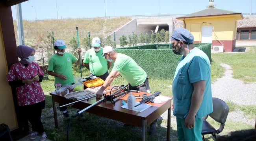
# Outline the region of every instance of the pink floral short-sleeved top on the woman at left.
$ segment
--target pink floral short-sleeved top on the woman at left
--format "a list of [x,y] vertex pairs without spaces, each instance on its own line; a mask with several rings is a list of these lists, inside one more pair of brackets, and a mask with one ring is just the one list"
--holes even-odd
[[[22,63],[18,62],[11,66],[6,80],[33,79],[37,75],[44,75],[44,72],[37,63],[32,62],[28,64],[28,67],[25,67]],[[38,81],[16,87],[16,92],[19,106],[32,105],[45,100],[43,89]]]

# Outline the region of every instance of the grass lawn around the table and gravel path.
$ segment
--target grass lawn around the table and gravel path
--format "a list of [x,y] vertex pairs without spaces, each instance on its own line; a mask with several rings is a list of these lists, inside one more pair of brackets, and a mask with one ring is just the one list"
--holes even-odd
[[[221,67],[221,63],[226,63],[232,66],[233,77],[243,80],[245,82],[256,82],[256,47],[250,47],[249,52],[228,54],[217,53],[212,54],[211,63],[211,81],[212,83],[221,78],[224,75],[224,68]],[[80,67],[73,65],[74,76],[81,76]],[[82,68],[83,78],[89,75],[89,71],[86,68]],[[67,127],[68,122],[63,121],[61,112],[57,112],[59,129],[55,129],[54,116],[52,110],[52,98],[49,92],[55,90],[54,78],[48,77],[49,80],[45,80],[41,83],[46,97],[46,108],[42,113],[42,121],[46,130],[47,138],[52,141],[66,141],[67,140]],[[127,84],[121,77],[116,78],[111,85]],[[152,92],[160,91],[162,95],[172,96],[172,80],[152,80],[149,79],[150,88]],[[161,87],[160,87],[161,86]],[[247,107],[241,105],[235,105],[232,101],[226,101],[230,107],[230,112],[240,109],[248,118],[255,118],[256,108],[249,105]],[[58,105],[58,104],[57,104]],[[76,110],[68,107],[70,115],[74,114]],[[122,127],[123,123],[114,121],[108,118],[96,116],[84,112],[86,121],[80,122],[79,118],[72,119],[69,131],[69,141],[140,141],[142,130],[138,127]],[[172,121],[175,119],[172,116]],[[219,128],[219,123],[216,123],[213,119],[208,117],[208,121],[215,127]],[[167,132],[167,120],[158,120],[157,132],[151,136],[147,134],[147,141],[165,141]],[[244,122],[227,120],[225,128],[220,135],[228,134],[230,131],[250,129],[252,125],[248,125]],[[149,127],[148,127],[149,129]],[[171,124],[171,140],[177,141],[177,127],[172,122]],[[206,136],[206,141],[213,141],[212,136]]]

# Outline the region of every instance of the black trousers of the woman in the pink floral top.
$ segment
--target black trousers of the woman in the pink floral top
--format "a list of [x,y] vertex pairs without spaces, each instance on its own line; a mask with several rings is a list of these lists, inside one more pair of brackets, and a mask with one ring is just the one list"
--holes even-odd
[[19,106],[23,116],[28,119],[32,125],[32,131],[37,131],[39,134],[45,132],[43,123],[41,121],[42,110],[45,108],[45,101],[35,103],[32,105]]

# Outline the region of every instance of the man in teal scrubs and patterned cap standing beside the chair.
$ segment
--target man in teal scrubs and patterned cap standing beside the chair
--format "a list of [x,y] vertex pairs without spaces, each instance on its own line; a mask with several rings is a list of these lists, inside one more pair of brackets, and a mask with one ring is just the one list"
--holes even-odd
[[202,141],[202,117],[213,112],[210,60],[187,29],[173,31],[171,40],[173,52],[182,55],[173,80],[178,141]]

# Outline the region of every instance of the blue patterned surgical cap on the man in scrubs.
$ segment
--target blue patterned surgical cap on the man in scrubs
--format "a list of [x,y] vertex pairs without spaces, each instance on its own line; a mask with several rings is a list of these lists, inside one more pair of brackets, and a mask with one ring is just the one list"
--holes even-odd
[[194,36],[187,29],[179,28],[173,31],[171,40],[182,40],[188,43],[193,43]]

